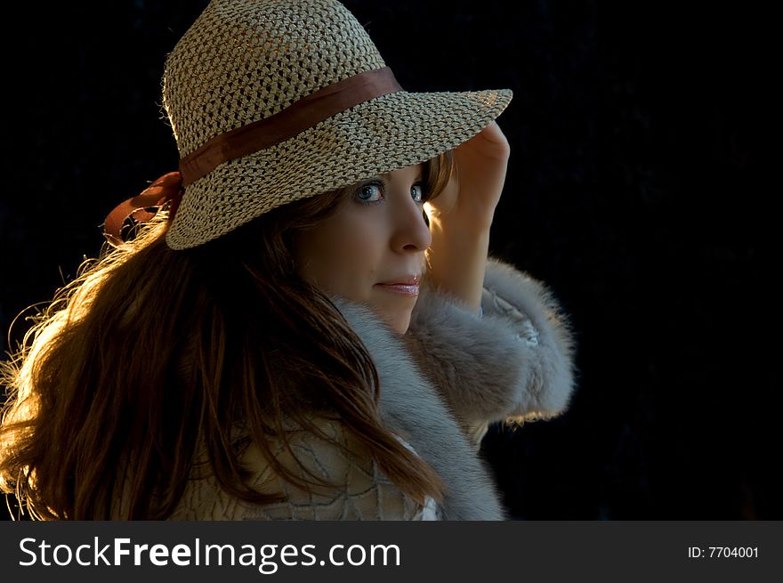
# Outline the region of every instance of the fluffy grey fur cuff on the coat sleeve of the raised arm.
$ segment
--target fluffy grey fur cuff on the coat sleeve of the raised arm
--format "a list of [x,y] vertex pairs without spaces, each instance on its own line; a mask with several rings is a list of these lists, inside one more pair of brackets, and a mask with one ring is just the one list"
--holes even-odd
[[561,413],[573,388],[572,349],[553,296],[495,260],[484,285],[482,317],[423,290],[407,336],[424,374],[466,433],[493,421]]

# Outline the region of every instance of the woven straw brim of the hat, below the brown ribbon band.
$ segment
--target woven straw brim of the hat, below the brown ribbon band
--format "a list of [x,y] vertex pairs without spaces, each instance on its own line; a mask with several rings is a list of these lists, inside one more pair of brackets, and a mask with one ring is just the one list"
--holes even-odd
[[400,91],[360,103],[189,184],[166,242],[196,247],[277,206],[421,164],[478,134],[511,99],[508,89]]

